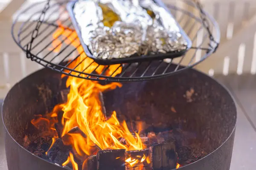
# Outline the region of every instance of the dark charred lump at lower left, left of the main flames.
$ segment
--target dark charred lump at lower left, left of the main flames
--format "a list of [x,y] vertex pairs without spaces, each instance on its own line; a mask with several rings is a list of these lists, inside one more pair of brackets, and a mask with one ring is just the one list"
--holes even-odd
[[69,153],[72,151],[71,146],[65,145],[61,138],[57,139],[50,150],[47,152],[49,161],[61,165],[67,160]]

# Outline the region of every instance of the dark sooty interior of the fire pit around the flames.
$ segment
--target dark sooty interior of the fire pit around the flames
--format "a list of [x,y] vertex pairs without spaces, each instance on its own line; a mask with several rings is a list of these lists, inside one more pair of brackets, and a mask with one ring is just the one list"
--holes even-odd
[[[70,156],[72,147],[65,145],[63,138],[56,139],[55,146],[49,149],[52,138],[42,137],[41,130],[32,125],[32,119],[44,117],[55,105],[67,100],[66,80],[58,73],[43,69],[15,85],[3,107],[8,132],[31,153],[61,166],[72,156],[79,170],[94,170],[94,167],[102,170],[109,164],[123,166],[134,151],[97,150],[96,155],[87,157],[84,163],[76,154]],[[220,147],[236,124],[236,108],[228,92],[192,69],[163,79],[123,83],[122,88],[102,96],[107,118],[116,111],[119,122],[125,120],[131,133],[137,132],[138,125],[142,127],[140,136],[147,148],[136,151],[135,156],[149,157],[143,164],[138,163],[143,170],[152,167],[170,170],[198,161]],[[58,127],[55,128],[58,131]],[[80,133],[79,129],[74,129],[73,133]],[[161,164],[156,161],[159,153]],[[126,166],[134,169],[131,164]],[[74,169],[71,163],[65,167]]]

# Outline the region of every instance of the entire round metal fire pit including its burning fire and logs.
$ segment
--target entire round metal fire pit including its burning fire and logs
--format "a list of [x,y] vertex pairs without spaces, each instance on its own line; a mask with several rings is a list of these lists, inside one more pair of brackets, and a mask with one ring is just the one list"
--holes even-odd
[[[70,79],[96,83],[91,95],[98,96],[88,100],[89,108],[70,102],[76,98],[71,96],[75,89],[66,88]],[[82,86],[79,90],[88,92]],[[67,103],[73,104],[69,111]],[[79,109],[92,109],[95,122],[84,122]],[[101,113],[103,117],[97,117]],[[61,79],[61,74],[42,69],[9,91],[3,122],[9,170],[229,170],[236,107],[225,88],[192,69],[172,77],[122,83],[122,87]],[[90,128],[93,135],[84,129],[86,123],[97,129]]]

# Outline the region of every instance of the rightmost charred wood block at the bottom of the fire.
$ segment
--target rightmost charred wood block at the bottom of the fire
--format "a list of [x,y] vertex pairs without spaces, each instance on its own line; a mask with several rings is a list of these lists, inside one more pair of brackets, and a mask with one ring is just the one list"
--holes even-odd
[[174,143],[156,144],[149,147],[150,167],[154,170],[176,168],[177,155]]

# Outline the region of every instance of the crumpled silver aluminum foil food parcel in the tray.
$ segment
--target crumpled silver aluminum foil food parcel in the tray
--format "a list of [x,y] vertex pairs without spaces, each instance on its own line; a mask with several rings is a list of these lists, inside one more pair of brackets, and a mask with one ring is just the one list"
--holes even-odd
[[187,47],[175,19],[153,0],[78,0],[73,11],[84,43],[99,59]]

